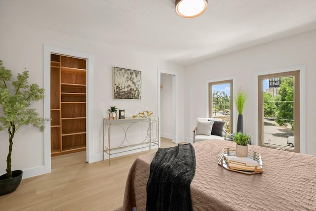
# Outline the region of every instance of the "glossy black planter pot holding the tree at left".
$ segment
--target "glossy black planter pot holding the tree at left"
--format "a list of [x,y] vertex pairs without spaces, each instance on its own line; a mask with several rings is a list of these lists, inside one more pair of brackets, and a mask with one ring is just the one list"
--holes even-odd
[[22,180],[22,170],[13,170],[11,179],[6,179],[6,173],[0,176],[0,196],[15,191]]

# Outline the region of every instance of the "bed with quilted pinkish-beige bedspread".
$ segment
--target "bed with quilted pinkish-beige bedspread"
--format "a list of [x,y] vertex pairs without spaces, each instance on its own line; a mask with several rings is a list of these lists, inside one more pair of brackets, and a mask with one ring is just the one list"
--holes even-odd
[[[193,144],[196,173],[191,182],[194,211],[316,211],[316,157],[249,145],[259,152],[263,173],[246,175],[218,165],[218,155],[234,142]],[[126,181],[119,210],[146,211],[146,184],[155,153],[139,156]]]

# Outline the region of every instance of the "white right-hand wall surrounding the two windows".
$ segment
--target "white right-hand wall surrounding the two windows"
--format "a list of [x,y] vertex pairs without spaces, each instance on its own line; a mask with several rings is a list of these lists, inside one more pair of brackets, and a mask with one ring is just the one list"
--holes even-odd
[[[306,153],[316,155],[316,30],[269,42],[185,67],[185,137],[192,136],[197,117],[206,115],[206,81],[236,77],[235,87],[246,85],[249,97],[244,110],[244,132],[254,137],[255,73],[306,66]],[[237,118],[237,116],[235,116]]]

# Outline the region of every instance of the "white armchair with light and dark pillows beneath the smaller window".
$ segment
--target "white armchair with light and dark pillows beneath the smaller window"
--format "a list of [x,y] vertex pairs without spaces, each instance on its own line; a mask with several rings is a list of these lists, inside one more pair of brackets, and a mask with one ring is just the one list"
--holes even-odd
[[193,130],[193,142],[221,139],[226,140],[225,122],[217,118],[197,118],[197,127]]

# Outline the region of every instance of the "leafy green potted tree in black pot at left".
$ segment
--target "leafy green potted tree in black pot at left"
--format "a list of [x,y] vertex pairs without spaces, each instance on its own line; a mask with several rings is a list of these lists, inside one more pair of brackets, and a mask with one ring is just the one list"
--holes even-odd
[[11,153],[13,137],[17,130],[32,124],[34,127],[44,129],[44,122],[49,119],[39,117],[33,108],[29,108],[31,101],[43,99],[44,89],[38,84],[29,84],[29,72],[18,74],[17,80],[12,81],[10,70],[2,66],[0,60],[0,130],[9,135],[9,152],[6,158],[6,173],[0,176],[0,195],[16,190],[22,179],[22,170],[11,170]]

